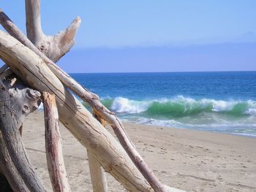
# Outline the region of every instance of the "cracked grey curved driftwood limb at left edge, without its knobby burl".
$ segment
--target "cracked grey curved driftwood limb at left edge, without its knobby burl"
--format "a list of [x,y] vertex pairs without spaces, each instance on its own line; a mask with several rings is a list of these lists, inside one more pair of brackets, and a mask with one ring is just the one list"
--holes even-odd
[[27,188],[29,188],[29,191],[45,191],[39,177],[37,177],[37,174],[31,165],[29,156],[26,154],[26,149],[21,141],[20,132],[14,120],[15,114],[13,114],[11,107],[12,100],[13,99],[10,99],[7,88],[3,82],[0,81],[0,128],[4,143],[7,146],[7,150],[15,168],[19,172]]

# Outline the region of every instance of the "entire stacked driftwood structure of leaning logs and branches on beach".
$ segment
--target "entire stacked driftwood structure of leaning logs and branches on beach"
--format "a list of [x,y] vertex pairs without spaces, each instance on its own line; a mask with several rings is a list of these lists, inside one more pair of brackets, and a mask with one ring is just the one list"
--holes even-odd
[[[26,115],[41,100],[45,109],[45,150],[53,191],[71,191],[61,150],[59,120],[86,147],[94,191],[108,191],[109,172],[127,191],[181,191],[163,185],[141,158],[124,126],[99,101],[55,64],[74,45],[80,18],[55,36],[46,36],[39,0],[26,0],[27,37],[0,10],[0,173],[3,191],[45,191],[23,146]],[[87,102],[92,115],[71,91]],[[101,122],[113,128],[118,141]]]

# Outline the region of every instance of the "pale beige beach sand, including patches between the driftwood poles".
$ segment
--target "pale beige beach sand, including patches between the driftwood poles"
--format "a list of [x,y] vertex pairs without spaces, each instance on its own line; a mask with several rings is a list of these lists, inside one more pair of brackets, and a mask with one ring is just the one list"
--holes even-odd
[[[256,191],[256,138],[124,123],[163,183],[187,191]],[[92,191],[86,150],[64,126],[61,137],[72,191]],[[23,126],[23,142],[43,184],[52,191],[45,158],[43,113]],[[125,191],[107,175],[109,191]]]

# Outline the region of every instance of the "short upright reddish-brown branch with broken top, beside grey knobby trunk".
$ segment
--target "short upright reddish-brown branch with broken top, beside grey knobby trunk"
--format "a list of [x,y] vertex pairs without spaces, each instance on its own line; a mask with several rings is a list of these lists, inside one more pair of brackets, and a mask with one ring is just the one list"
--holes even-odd
[[59,132],[59,115],[55,96],[43,92],[45,110],[45,149],[50,174],[50,181],[55,192],[70,192],[67,172],[61,147],[61,134]]

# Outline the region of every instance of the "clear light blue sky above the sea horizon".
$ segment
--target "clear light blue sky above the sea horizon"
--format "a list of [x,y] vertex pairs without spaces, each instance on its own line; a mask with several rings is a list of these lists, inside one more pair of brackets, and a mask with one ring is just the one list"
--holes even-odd
[[[1,8],[25,31],[23,1]],[[59,61],[67,72],[256,70],[255,10],[253,0],[41,1],[45,34],[82,18],[75,47]]]

